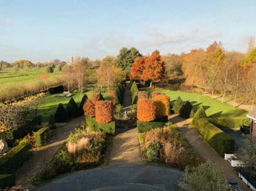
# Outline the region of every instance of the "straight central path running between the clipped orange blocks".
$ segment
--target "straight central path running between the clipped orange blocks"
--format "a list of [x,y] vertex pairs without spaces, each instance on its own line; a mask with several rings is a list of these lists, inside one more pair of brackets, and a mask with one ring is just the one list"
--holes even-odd
[[[126,88],[122,112],[131,110],[131,92]],[[143,164],[137,128],[115,129],[109,165]]]

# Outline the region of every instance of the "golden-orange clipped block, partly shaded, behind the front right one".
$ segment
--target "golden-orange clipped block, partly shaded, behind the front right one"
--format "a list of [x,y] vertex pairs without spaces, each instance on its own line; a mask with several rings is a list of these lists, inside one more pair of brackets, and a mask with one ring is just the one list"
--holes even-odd
[[170,97],[167,95],[155,95],[152,100],[156,101],[156,115],[168,116],[170,114]]

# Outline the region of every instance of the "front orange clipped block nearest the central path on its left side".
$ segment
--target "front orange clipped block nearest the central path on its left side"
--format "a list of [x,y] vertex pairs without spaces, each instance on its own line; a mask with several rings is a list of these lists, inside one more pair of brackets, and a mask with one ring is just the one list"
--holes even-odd
[[99,123],[112,122],[114,109],[111,101],[97,101],[95,105],[96,121]]

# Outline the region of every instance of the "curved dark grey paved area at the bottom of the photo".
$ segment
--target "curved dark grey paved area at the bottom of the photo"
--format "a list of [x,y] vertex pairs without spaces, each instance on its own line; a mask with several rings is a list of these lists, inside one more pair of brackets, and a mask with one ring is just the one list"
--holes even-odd
[[102,186],[118,186],[129,183],[146,184],[158,188],[177,190],[183,172],[150,165],[118,165],[80,171],[49,182],[36,190],[89,191]]

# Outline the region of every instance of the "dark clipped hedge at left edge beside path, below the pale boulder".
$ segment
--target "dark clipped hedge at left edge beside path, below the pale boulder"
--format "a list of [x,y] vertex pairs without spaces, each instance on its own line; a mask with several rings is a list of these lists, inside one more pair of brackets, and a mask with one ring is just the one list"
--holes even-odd
[[23,139],[19,145],[11,148],[0,160],[1,173],[16,172],[32,155],[30,141]]

